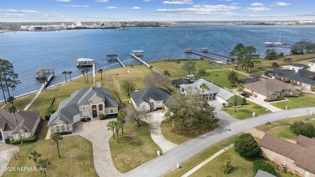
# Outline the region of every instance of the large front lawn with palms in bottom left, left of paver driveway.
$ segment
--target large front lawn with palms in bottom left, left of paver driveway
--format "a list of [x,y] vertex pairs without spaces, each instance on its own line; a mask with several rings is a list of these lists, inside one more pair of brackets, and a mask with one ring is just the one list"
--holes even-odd
[[[8,167],[36,167],[28,158],[30,152],[41,153],[39,158],[48,158],[52,164],[47,167],[48,177],[97,177],[93,163],[92,143],[81,136],[64,137],[59,142],[58,156],[56,143],[52,140],[18,145],[20,156],[18,160],[11,158]],[[2,177],[43,177],[43,172],[4,172]]]

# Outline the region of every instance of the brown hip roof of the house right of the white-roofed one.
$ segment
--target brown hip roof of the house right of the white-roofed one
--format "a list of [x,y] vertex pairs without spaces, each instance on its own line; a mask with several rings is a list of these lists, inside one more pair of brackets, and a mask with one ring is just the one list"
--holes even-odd
[[272,93],[276,91],[282,91],[282,90],[299,90],[295,87],[289,86],[277,79],[265,79],[262,81],[250,83],[245,85],[246,89],[250,89],[254,92],[257,92],[259,94],[262,94],[264,96],[271,95]]

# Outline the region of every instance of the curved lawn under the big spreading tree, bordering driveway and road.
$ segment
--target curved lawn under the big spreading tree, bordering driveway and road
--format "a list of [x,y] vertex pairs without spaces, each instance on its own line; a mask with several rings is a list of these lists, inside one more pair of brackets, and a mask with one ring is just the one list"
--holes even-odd
[[196,129],[188,129],[188,128],[175,128],[171,126],[167,126],[165,123],[161,123],[161,131],[164,138],[172,143],[180,145],[198,135],[209,132],[214,128],[219,127],[219,125],[199,125]]

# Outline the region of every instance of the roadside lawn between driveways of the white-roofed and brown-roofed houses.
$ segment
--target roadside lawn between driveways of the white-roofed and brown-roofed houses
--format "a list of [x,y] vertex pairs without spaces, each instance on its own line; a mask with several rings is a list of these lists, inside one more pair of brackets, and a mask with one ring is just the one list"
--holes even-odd
[[227,114],[231,115],[233,118],[244,119],[252,117],[252,113],[255,112],[256,116],[269,113],[266,111],[265,107],[262,107],[256,103],[247,100],[247,105],[242,107],[236,107],[236,112],[234,113],[234,106],[222,107],[222,110]]

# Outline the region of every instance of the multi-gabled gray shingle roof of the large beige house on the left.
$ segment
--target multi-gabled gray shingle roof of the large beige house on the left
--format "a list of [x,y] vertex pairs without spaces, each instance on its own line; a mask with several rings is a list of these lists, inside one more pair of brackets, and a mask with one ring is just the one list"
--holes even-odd
[[58,120],[66,123],[73,123],[73,116],[80,113],[79,105],[89,104],[95,97],[103,99],[105,107],[116,107],[118,102],[111,97],[112,92],[105,88],[85,87],[74,91],[69,98],[60,102],[59,109],[50,116],[48,126],[53,125]]

